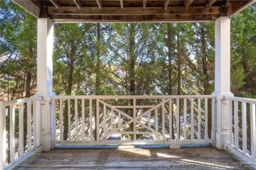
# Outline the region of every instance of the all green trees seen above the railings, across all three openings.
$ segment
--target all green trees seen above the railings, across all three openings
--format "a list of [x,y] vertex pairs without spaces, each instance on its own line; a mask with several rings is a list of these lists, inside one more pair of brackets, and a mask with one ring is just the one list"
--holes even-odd
[[[0,3],[1,97],[36,87],[37,21]],[[231,89],[256,95],[255,5],[232,18]],[[209,94],[214,88],[214,24],[54,24],[58,95]]]

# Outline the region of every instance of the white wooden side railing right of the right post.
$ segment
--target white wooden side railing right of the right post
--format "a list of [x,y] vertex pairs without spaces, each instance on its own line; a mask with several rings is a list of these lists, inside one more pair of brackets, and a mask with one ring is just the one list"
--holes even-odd
[[225,146],[256,162],[256,99],[226,96],[225,99],[229,101],[229,137]]

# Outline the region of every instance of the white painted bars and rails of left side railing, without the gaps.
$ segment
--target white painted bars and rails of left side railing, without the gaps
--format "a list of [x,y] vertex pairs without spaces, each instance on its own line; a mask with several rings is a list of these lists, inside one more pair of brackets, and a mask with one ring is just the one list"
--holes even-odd
[[[32,152],[37,152],[39,150],[41,150],[41,146],[39,146],[39,142],[37,141],[39,138],[37,135],[40,135],[40,131],[38,129],[38,126],[40,126],[40,124],[38,124],[37,120],[38,118],[40,118],[40,110],[39,110],[39,103],[41,101],[42,97],[30,97],[30,98],[25,98],[25,99],[16,99],[16,100],[12,100],[12,101],[1,101],[0,102],[0,124],[1,124],[1,128],[0,128],[0,138],[1,138],[1,146],[0,146],[0,152],[2,153],[0,155],[1,158],[1,163],[0,163],[0,169],[12,169],[17,163],[20,163],[22,160],[28,158],[28,156],[30,156],[31,151]],[[32,102],[33,102],[33,148],[32,148]],[[27,129],[28,129],[28,152],[26,152],[25,154],[23,154],[24,152],[24,148],[20,147],[19,149],[21,150],[21,152],[19,153],[19,157],[16,159],[15,158],[15,150],[14,150],[14,133],[16,133],[16,131],[14,131],[14,109],[16,107],[16,104],[18,104],[19,106],[19,113],[20,116],[18,118],[19,122],[23,122],[24,120],[24,103],[27,103],[28,107],[27,107],[27,116],[28,116],[28,122],[27,122]],[[8,165],[5,165],[5,157],[6,157],[6,115],[5,115],[5,111],[6,111],[6,107],[10,106],[10,155],[11,155],[11,162],[8,163]],[[3,122],[2,122],[3,121]],[[41,127],[41,126],[40,126]],[[22,131],[24,131],[24,126],[23,123],[19,125],[19,132],[23,133]],[[40,129],[41,130],[41,129]],[[18,140],[20,142],[20,145],[23,146],[23,135],[18,137]],[[37,148],[35,148],[35,146]]]

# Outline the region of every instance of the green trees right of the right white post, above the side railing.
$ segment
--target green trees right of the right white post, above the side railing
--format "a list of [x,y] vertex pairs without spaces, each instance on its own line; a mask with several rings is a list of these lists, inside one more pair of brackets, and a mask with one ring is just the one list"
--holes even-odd
[[248,7],[232,18],[231,81],[232,92],[256,95],[256,9]]

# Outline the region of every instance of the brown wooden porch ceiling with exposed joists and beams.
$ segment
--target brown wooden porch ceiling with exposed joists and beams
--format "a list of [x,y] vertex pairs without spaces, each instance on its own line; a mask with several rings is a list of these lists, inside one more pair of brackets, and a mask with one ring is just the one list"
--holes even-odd
[[13,0],[54,22],[213,22],[256,0]]

